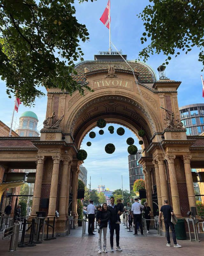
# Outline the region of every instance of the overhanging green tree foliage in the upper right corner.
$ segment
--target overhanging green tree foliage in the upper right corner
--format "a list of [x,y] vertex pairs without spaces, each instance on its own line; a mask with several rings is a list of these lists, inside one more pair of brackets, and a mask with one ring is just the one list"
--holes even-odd
[[[181,51],[186,54],[193,46],[200,49],[199,61],[204,66],[204,1],[203,0],[149,0],[138,15],[144,21],[146,32],[142,34],[141,42],[151,39],[151,44],[145,47],[139,57],[143,61],[150,54],[163,52],[168,56],[165,63],[171,60],[170,55],[177,57]],[[203,69],[202,69],[203,71]]]

